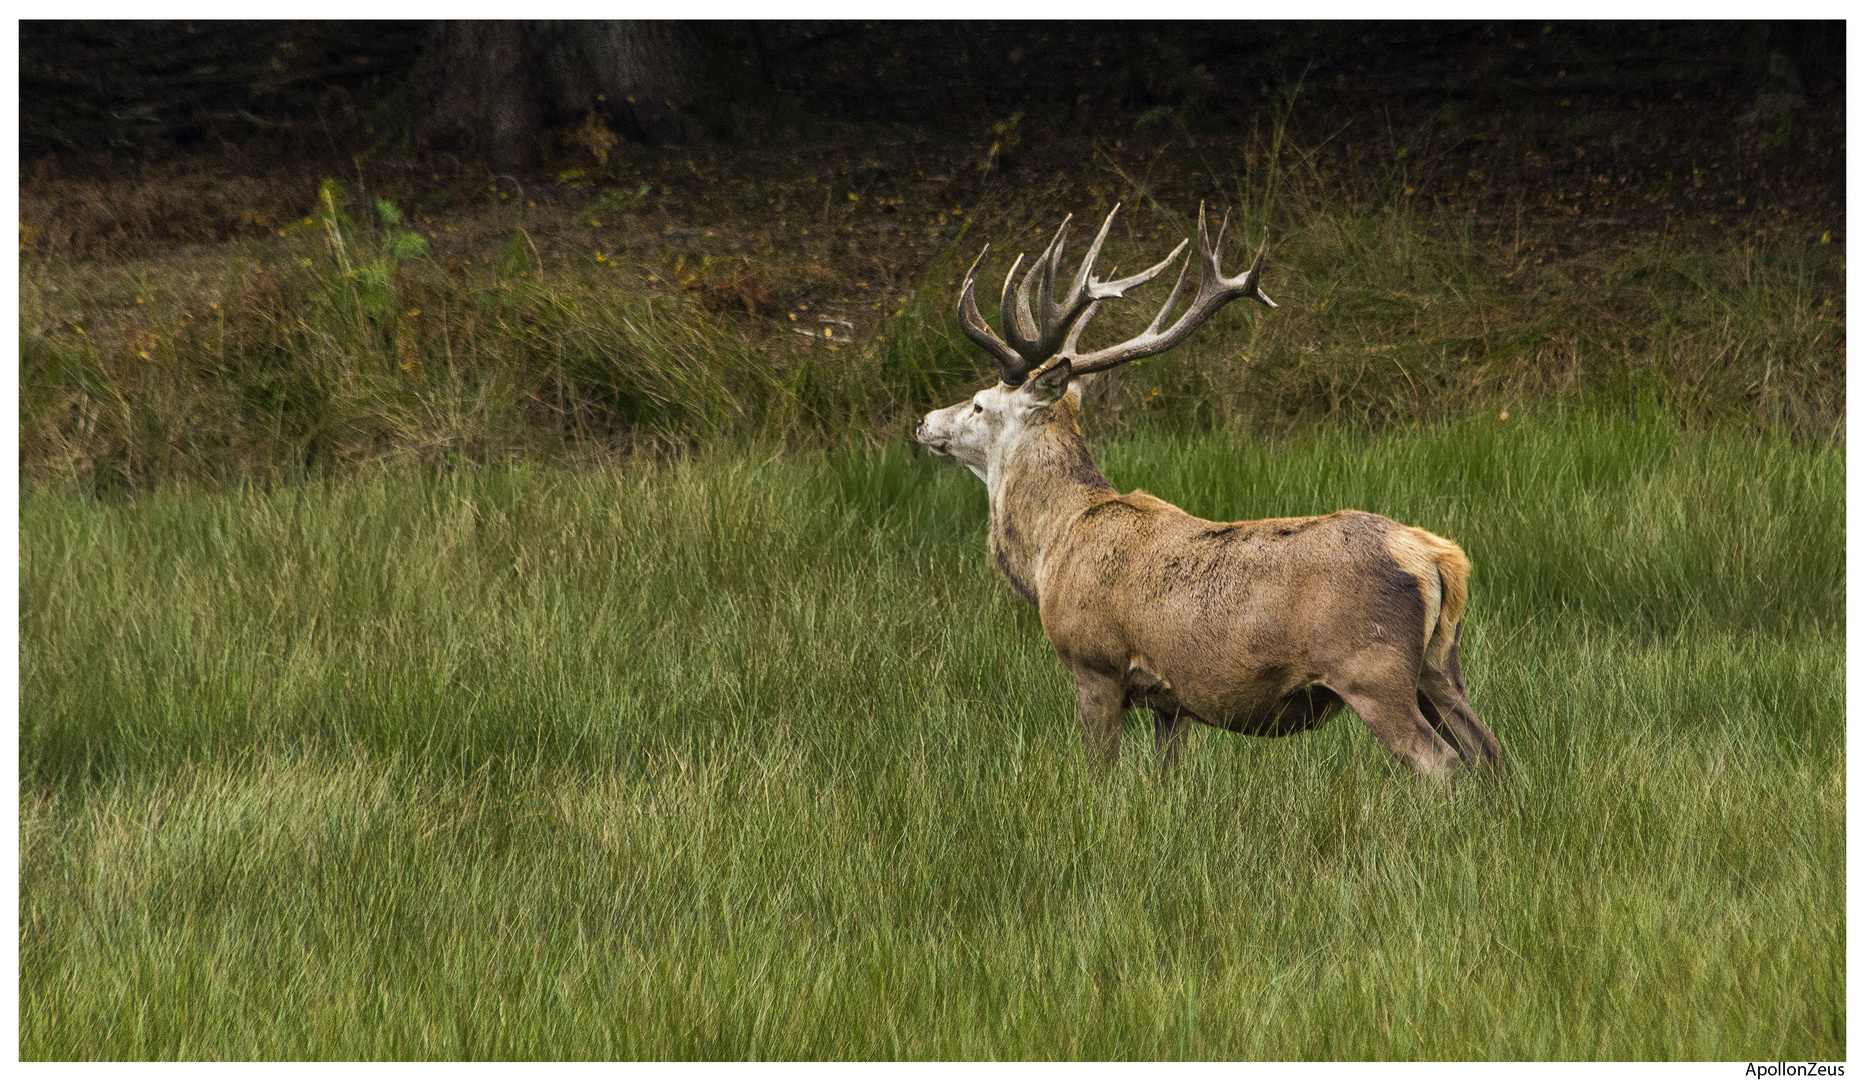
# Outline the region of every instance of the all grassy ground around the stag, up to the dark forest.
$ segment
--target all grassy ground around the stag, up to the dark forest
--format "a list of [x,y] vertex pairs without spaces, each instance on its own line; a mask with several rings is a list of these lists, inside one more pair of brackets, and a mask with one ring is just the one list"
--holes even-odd
[[[21,1056],[1844,1058],[1843,108],[1298,90],[34,162]],[[985,242],[1201,201],[1279,308],[1098,379],[1098,463],[1458,541],[1501,782],[1350,713],[1089,768],[910,446]]]

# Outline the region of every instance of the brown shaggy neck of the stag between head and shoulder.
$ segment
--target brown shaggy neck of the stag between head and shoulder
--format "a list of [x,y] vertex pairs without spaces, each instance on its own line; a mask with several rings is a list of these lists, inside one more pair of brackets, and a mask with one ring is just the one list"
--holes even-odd
[[1035,604],[1043,552],[1113,485],[1089,457],[1072,416],[1035,427],[994,455],[985,485],[990,489],[990,558],[1011,588]]

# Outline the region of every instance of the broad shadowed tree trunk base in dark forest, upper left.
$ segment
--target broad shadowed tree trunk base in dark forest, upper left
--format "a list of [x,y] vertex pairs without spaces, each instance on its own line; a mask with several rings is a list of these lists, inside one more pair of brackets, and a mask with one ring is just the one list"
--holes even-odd
[[548,127],[589,114],[625,138],[686,142],[701,65],[675,22],[440,22],[416,82],[420,136],[505,168],[535,162]]

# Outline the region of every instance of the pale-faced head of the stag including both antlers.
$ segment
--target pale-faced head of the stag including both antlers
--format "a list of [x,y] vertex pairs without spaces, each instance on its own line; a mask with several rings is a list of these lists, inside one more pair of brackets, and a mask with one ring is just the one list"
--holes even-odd
[[[1263,241],[1263,248],[1257,252],[1257,259],[1250,265],[1250,270],[1238,278],[1225,278],[1218,261],[1229,218],[1218,226],[1218,239],[1212,241],[1205,228],[1205,207],[1199,203],[1197,248],[1203,263],[1199,267],[1197,291],[1179,317],[1169,326],[1166,325],[1167,315],[1173,313],[1179,306],[1179,297],[1184,293],[1184,278],[1186,270],[1192,269],[1192,259],[1186,259],[1179,267],[1179,282],[1173,285],[1171,295],[1166,297],[1166,304],[1158,310],[1158,315],[1153,317],[1153,323],[1138,338],[1093,353],[1082,353],[1078,349],[1082,330],[1093,321],[1100,302],[1123,297],[1126,289],[1160,276],[1188,246],[1188,241],[1181,241],[1160,263],[1130,278],[1097,282],[1093,276],[1095,256],[1100,254],[1100,244],[1108,239],[1108,229],[1113,228],[1113,215],[1119,209],[1115,205],[1108,213],[1100,233],[1087,248],[1087,257],[1082,259],[1082,267],[1074,272],[1074,282],[1059,300],[1056,298],[1056,278],[1061,272],[1063,242],[1069,237],[1071,218],[1063,218],[1061,228],[1056,229],[1056,239],[1050,241],[1050,246],[1024,272],[1013,300],[1011,284],[1016,282],[1016,269],[1024,261],[1022,256],[1016,256],[1016,261],[1011,263],[1011,272],[1003,276],[1003,293],[1000,298],[1002,338],[985,323],[985,317],[977,310],[977,267],[985,261],[990,246],[987,244],[977,254],[972,269],[964,274],[964,287],[959,291],[959,325],[964,326],[968,338],[983,345],[998,362],[1000,382],[990,390],[977,392],[970,401],[925,414],[914,433],[919,442],[931,446],[936,453],[957,457],[979,478],[988,479],[990,459],[1005,448],[1022,442],[1018,435],[1029,431],[1031,425],[1057,418],[1054,408],[1057,401],[1067,403],[1063,414],[1072,423],[1074,403],[1080,397],[1078,394],[1071,394],[1071,390],[1074,390],[1080,377],[1106,371],[1141,356],[1156,356],[1179,345],[1205,319],[1210,319],[1218,308],[1238,297],[1250,297],[1268,308],[1276,306],[1259,287],[1268,239]],[[1031,287],[1039,287],[1035,310],[1029,304]]]

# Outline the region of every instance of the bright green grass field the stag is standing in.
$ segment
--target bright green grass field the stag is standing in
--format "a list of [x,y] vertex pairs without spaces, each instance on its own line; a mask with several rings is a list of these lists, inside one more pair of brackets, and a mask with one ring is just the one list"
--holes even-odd
[[1136,427],[1475,561],[1501,785],[1350,716],[1082,761],[905,450],[21,507],[24,1058],[1844,1058],[1843,451]]

